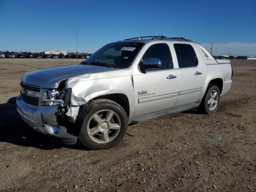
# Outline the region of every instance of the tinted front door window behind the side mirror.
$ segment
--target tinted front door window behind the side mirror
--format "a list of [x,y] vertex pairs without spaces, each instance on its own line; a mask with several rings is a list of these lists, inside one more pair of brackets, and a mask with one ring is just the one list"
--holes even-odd
[[150,46],[143,55],[142,60],[148,58],[158,58],[161,60],[162,67],[157,70],[173,68],[170,48],[166,43],[158,43]]

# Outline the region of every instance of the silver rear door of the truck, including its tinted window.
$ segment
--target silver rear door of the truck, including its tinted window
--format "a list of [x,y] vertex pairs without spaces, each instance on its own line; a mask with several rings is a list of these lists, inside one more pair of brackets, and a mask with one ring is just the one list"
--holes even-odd
[[179,66],[178,99],[176,106],[201,100],[203,74],[193,44],[175,43]]

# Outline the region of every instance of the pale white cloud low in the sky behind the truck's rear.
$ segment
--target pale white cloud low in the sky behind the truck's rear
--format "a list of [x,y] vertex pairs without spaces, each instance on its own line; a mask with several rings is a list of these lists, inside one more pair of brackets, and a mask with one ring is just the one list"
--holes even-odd
[[[211,43],[202,44],[206,50],[210,52]],[[227,43],[214,43],[212,48],[212,54],[230,54],[243,55],[243,56],[256,56],[256,43],[239,43],[239,42],[227,42]]]

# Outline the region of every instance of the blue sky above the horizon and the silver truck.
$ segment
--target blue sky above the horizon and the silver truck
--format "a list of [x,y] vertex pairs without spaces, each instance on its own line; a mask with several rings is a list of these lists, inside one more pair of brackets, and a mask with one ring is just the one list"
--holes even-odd
[[[256,55],[256,0],[0,0],[0,50],[94,52],[149,35],[185,37],[214,54]],[[242,49],[241,49],[242,46]]]

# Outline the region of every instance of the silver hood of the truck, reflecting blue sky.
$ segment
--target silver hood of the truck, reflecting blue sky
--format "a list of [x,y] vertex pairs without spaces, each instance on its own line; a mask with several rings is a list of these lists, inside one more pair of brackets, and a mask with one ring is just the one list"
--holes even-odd
[[117,69],[94,65],[65,65],[28,72],[22,77],[22,82],[41,88],[57,88],[58,84],[67,78],[110,70]]

